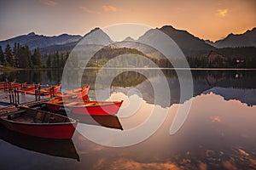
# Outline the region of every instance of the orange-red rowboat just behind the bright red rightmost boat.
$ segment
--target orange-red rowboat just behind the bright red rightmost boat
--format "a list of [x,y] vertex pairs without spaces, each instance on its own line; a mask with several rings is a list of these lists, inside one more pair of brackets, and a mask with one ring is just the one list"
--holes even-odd
[[81,99],[88,94],[89,88],[90,86],[85,86],[82,88],[67,90],[65,92],[56,93],[55,96],[60,97],[61,99]]

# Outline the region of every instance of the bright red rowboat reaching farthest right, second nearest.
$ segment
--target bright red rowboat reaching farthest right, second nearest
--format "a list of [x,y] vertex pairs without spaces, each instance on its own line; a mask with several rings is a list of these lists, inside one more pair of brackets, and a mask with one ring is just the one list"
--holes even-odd
[[73,114],[108,116],[117,114],[122,103],[123,100],[83,101],[79,99],[52,99],[45,102],[45,105],[50,111],[60,111],[65,106],[65,108],[70,110]]

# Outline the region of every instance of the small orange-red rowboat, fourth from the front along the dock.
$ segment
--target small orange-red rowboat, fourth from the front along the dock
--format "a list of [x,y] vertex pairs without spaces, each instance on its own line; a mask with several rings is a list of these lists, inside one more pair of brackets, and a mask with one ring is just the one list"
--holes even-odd
[[61,89],[61,84],[60,85],[55,85],[55,86],[49,86],[47,88],[40,88],[40,89],[35,89],[32,91],[27,91],[26,94],[32,94],[32,95],[53,95],[57,94]]

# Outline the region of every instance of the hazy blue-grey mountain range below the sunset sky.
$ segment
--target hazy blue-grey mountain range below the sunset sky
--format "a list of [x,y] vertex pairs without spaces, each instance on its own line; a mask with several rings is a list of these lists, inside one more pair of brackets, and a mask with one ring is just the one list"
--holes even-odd
[[[163,26],[160,31],[165,32],[169,37],[177,43],[179,48],[182,49],[183,54],[186,56],[201,56],[206,55],[209,51],[216,48],[234,48],[234,47],[256,47],[256,28],[251,31],[246,31],[243,34],[234,35],[230,33],[227,37],[217,42],[210,42],[202,40],[198,37],[193,36],[188,31],[177,30],[172,26]],[[97,34],[95,39],[92,33]],[[89,33],[85,34],[83,38],[79,35],[67,35],[62,34],[60,36],[46,37],[43,35],[37,35],[34,32],[27,35],[22,35],[19,37],[13,37],[0,42],[0,46],[4,49],[6,44],[9,43],[11,47],[14,47],[15,42],[20,43],[20,45],[28,45],[29,48],[40,48],[42,54],[54,53],[56,50],[60,52],[71,51],[81,40],[87,41],[84,43],[98,44],[102,43],[109,44],[113,41],[108,37],[108,35],[102,31],[100,28],[96,28]],[[91,37],[91,38],[90,38]],[[154,31],[149,30],[139,37],[138,40],[134,40],[131,37],[126,37],[122,42],[114,42],[117,47],[128,46],[128,48],[138,48],[144,54],[153,54],[152,49],[145,48],[139,44],[139,42],[150,41],[151,37],[154,37]]]

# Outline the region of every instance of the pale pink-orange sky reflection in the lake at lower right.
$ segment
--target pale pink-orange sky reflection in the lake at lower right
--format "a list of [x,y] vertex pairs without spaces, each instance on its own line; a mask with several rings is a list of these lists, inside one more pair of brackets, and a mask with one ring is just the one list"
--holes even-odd
[[[178,105],[172,105],[166,122],[149,139],[126,148],[108,148],[93,144],[83,136],[74,141],[81,160],[94,157],[93,169],[250,169],[255,168],[256,107],[237,100],[226,101],[216,94],[194,97],[189,117],[183,127],[169,135]],[[146,103],[143,104],[148,105]],[[186,105],[186,103],[181,106]],[[145,107],[137,116],[147,116]],[[137,120],[137,122],[134,122]],[[134,127],[143,119],[125,117],[124,127]],[[116,136],[116,139],[120,136]],[[88,153],[90,153],[88,155]],[[111,153],[109,155],[108,153]],[[90,160],[91,161],[91,160]]]

